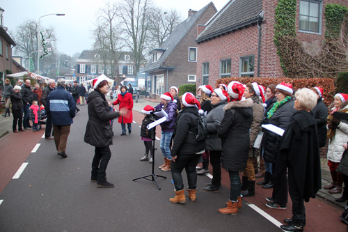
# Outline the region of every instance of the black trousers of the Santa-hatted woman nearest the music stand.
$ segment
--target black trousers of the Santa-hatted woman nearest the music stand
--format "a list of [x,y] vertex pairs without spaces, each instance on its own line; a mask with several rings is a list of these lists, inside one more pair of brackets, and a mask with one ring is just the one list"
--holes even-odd
[[171,162],[171,173],[174,181],[175,191],[180,191],[184,189],[184,183],[182,180],[181,172],[185,169],[187,173],[187,182],[189,185],[189,190],[196,190],[197,185],[197,173],[196,165],[200,155],[177,155],[175,162]]

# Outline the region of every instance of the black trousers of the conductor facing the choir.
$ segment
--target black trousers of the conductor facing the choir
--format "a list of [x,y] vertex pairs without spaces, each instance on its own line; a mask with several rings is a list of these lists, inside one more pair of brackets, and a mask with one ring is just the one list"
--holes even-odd
[[92,161],[91,179],[97,179],[98,183],[106,181],[106,167],[108,167],[111,158],[109,146],[95,147],[95,155]]

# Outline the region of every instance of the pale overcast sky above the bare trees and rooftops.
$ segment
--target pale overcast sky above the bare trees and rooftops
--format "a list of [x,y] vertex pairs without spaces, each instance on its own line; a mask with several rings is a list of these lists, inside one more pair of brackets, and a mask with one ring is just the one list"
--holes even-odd
[[[118,0],[115,0],[118,1]],[[187,18],[189,9],[200,10],[211,0],[153,0],[153,2],[169,10],[180,12],[182,19]],[[217,10],[221,10],[229,0],[213,1]],[[53,26],[58,37],[59,52],[72,56],[75,52],[92,49],[93,39],[90,31],[94,28],[93,21],[97,10],[104,6],[106,0],[3,0],[0,7],[3,13],[3,26],[15,32],[17,26],[26,20],[36,20],[42,15],[65,13],[65,16],[49,15],[40,20],[41,27]]]

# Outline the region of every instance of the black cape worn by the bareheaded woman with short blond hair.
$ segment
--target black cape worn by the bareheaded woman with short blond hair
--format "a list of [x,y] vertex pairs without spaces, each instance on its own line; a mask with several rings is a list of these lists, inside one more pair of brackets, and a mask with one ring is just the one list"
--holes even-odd
[[306,202],[315,198],[322,187],[316,124],[313,114],[305,110],[296,111],[283,134],[276,163],[276,167],[286,165],[293,170],[289,175],[294,174],[292,179],[296,181],[299,197]]

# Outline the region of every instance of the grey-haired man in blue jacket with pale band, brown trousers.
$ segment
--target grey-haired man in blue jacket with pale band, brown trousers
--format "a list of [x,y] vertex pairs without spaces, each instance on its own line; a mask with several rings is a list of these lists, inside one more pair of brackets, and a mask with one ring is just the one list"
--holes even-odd
[[65,91],[65,79],[58,79],[56,90],[47,96],[46,112],[47,116],[52,118],[54,143],[58,155],[63,158],[68,157],[65,149],[75,110],[74,98],[68,91]]

